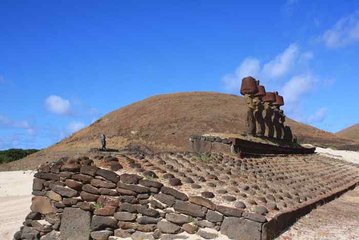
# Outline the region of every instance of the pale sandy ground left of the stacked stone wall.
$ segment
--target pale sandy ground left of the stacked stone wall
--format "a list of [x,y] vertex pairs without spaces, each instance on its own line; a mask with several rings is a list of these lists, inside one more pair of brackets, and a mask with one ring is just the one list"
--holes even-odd
[[0,239],[11,240],[30,212],[34,171],[0,172]]

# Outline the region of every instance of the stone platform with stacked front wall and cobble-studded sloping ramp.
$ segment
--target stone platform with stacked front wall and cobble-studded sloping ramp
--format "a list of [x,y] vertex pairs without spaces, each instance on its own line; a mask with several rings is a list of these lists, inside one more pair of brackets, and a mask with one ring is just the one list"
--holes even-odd
[[273,239],[359,181],[358,165],[319,154],[99,153],[93,160],[38,167],[16,240],[170,239],[184,232]]

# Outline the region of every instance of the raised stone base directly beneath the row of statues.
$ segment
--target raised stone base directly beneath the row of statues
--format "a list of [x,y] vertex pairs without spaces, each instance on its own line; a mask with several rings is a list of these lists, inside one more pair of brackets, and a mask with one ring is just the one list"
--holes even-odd
[[303,147],[300,144],[258,138],[246,135],[192,135],[189,138],[189,151],[197,153],[222,152],[240,154],[240,156],[270,154],[313,154],[315,147]]

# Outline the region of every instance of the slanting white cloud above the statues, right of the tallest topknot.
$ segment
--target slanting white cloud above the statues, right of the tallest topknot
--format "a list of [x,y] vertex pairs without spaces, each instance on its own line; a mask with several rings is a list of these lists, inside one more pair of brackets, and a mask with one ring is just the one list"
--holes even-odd
[[265,64],[263,71],[271,78],[285,75],[293,67],[298,58],[299,48],[296,44],[291,44],[284,52],[278,54],[274,60]]

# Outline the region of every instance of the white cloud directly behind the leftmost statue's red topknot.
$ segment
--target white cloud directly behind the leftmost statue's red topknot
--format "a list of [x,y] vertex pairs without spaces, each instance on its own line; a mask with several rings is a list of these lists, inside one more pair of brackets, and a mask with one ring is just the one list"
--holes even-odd
[[237,67],[234,74],[226,75],[222,81],[225,83],[227,90],[238,91],[244,77],[253,76],[255,78],[260,70],[260,61],[256,58],[248,57]]

